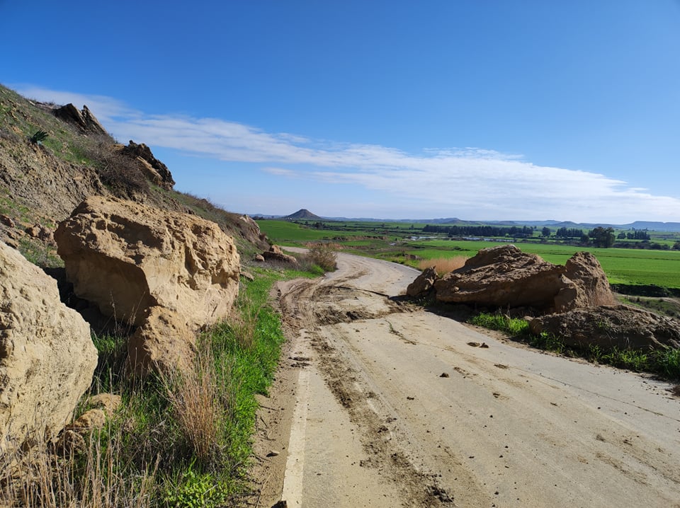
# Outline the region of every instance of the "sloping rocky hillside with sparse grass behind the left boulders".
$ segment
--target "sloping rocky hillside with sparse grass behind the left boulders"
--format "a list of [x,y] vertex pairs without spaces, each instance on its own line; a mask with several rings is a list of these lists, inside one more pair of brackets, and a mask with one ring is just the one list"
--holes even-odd
[[254,221],[176,192],[148,146],[117,144],[105,127],[86,106],[38,103],[0,85],[0,241],[42,267],[60,265],[57,224],[101,195],[214,221],[244,259],[268,247]]

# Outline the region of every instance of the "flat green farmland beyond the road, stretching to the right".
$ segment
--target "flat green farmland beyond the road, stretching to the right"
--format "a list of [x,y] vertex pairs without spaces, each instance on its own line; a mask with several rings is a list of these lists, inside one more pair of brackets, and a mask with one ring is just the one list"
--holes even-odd
[[[302,245],[309,241],[333,241],[345,250],[376,258],[408,262],[408,255],[420,259],[472,257],[481,248],[505,245],[501,241],[460,241],[428,239],[412,241],[421,233],[422,224],[375,222],[325,222],[324,228],[280,220],[261,220],[258,224],[271,242]],[[370,238],[369,238],[370,237]],[[670,240],[668,240],[670,241]],[[574,253],[588,250],[599,260],[611,284],[646,285],[680,289],[680,250],[646,250],[630,248],[588,248],[562,243],[540,243],[539,238],[514,243],[526,253],[540,255],[546,261],[564,265]]]

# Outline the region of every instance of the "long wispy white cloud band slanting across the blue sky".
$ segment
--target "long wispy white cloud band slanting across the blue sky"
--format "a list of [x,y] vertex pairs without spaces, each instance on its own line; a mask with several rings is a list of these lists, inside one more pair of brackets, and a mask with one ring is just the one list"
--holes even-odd
[[220,161],[261,163],[261,171],[274,178],[355,185],[390,195],[393,202],[412,201],[424,214],[680,221],[680,200],[674,197],[652,195],[598,173],[537,166],[516,154],[470,147],[429,148],[414,154],[387,146],[266,132],[218,118],[147,115],[102,96],[16,88],[39,100],[87,104],[118,139]]

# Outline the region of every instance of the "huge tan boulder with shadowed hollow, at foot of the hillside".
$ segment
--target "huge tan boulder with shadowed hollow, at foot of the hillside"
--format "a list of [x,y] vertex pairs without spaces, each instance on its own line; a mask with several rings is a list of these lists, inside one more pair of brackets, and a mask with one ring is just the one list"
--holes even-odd
[[55,233],[75,293],[106,316],[142,325],[154,306],[189,328],[227,316],[239,255],[217,224],[107,197],[90,197]]

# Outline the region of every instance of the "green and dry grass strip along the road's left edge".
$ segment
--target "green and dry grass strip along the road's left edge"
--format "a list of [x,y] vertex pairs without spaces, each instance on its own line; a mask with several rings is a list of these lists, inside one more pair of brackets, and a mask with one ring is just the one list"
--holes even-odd
[[[0,478],[0,505],[13,507],[223,507],[247,492],[256,394],[266,394],[283,343],[268,303],[279,279],[323,270],[253,267],[227,320],[198,337],[193,370],[144,381],[125,375],[127,330],[94,336],[99,362],[91,393],[122,396],[84,448],[31,451]],[[86,407],[79,408],[79,414]],[[49,453],[48,453],[49,452]]]

